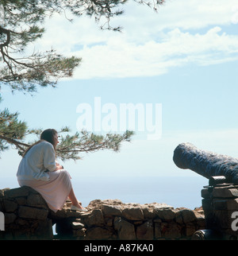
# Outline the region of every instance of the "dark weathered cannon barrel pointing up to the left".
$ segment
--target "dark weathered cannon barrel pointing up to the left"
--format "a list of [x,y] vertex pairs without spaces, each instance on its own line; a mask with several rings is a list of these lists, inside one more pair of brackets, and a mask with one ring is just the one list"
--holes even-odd
[[173,161],[180,169],[190,169],[206,178],[225,176],[226,181],[238,184],[238,159],[196,148],[191,143],[179,144]]

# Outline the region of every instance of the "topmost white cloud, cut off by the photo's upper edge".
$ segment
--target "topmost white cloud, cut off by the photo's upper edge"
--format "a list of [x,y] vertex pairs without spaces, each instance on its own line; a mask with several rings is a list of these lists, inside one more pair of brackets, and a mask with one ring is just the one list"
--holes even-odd
[[125,27],[125,33],[143,40],[164,29],[202,29],[214,25],[230,25],[237,14],[236,0],[167,0],[158,13],[145,6],[130,4],[125,15],[114,23]]

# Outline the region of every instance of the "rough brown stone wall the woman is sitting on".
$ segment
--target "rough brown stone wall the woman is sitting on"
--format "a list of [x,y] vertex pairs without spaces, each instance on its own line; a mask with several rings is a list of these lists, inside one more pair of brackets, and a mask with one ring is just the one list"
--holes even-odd
[[[202,208],[172,208],[167,204],[123,204],[121,200],[94,200],[87,212],[51,211],[39,193],[29,187],[0,190],[5,231],[0,239],[158,240],[191,239],[205,228]],[[56,233],[52,226],[56,224]]]

